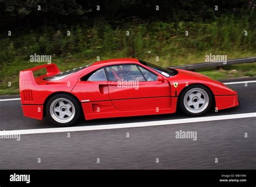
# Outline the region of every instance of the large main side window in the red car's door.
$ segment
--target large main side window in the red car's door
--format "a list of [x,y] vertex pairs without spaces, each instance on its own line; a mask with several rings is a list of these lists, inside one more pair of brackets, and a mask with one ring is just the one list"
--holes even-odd
[[136,65],[125,64],[106,67],[110,81],[145,81]]

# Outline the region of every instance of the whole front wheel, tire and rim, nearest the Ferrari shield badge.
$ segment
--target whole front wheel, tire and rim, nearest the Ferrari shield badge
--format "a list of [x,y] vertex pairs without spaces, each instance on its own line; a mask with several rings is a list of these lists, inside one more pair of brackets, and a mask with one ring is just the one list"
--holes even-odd
[[191,85],[180,96],[180,109],[190,116],[200,116],[210,110],[212,93],[203,85]]

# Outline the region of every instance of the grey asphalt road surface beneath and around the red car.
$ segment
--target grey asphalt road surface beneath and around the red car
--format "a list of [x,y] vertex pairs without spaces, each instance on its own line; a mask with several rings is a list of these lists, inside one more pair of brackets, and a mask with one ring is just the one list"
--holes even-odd
[[[256,112],[256,83],[230,86],[238,91],[240,105],[205,116]],[[46,119],[23,117],[19,100],[0,102],[0,107],[0,131],[55,127]],[[80,120],[77,126],[185,118],[178,112]],[[177,139],[180,130],[197,132],[197,140]],[[256,118],[79,131],[70,132],[70,138],[67,132],[22,134],[19,141],[0,139],[0,150],[0,169],[256,169]]]

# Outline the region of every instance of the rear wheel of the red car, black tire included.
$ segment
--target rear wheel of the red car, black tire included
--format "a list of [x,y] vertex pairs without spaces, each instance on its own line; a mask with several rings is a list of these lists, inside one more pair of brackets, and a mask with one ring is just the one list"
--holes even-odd
[[[60,105],[58,102],[63,102],[64,105]],[[70,109],[68,109],[69,105],[71,106]],[[60,112],[55,111],[57,110],[55,108],[57,108],[58,106],[62,106],[62,109],[64,109],[65,107],[64,111],[60,110],[62,112],[62,115],[64,115],[63,120],[60,119]],[[71,113],[70,117],[68,117],[68,115],[65,114],[65,110],[66,112],[69,110],[69,112]],[[75,124],[79,119],[80,112],[80,105],[77,99],[67,93],[57,93],[56,95],[53,95],[52,97],[50,97],[50,99],[45,105],[45,113],[47,118],[50,120],[52,124],[55,124],[59,127],[68,127]]]

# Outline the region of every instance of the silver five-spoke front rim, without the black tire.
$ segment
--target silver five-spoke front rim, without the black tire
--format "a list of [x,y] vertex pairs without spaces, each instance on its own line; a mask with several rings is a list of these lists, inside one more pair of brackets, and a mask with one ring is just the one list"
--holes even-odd
[[207,92],[201,88],[193,88],[188,90],[184,96],[184,106],[191,113],[203,112],[209,104],[209,96]]

